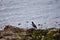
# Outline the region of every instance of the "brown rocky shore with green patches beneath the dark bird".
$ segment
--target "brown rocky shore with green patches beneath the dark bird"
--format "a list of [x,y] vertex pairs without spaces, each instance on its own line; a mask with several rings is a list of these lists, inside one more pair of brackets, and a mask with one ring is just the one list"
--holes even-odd
[[60,28],[24,29],[6,25],[0,30],[0,40],[60,40]]

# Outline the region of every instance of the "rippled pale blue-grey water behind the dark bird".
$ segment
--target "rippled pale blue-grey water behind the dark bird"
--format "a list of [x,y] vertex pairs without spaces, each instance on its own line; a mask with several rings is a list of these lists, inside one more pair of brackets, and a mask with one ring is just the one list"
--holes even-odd
[[38,28],[38,24],[60,27],[60,0],[0,0],[0,29],[4,25],[31,28],[32,21]]

